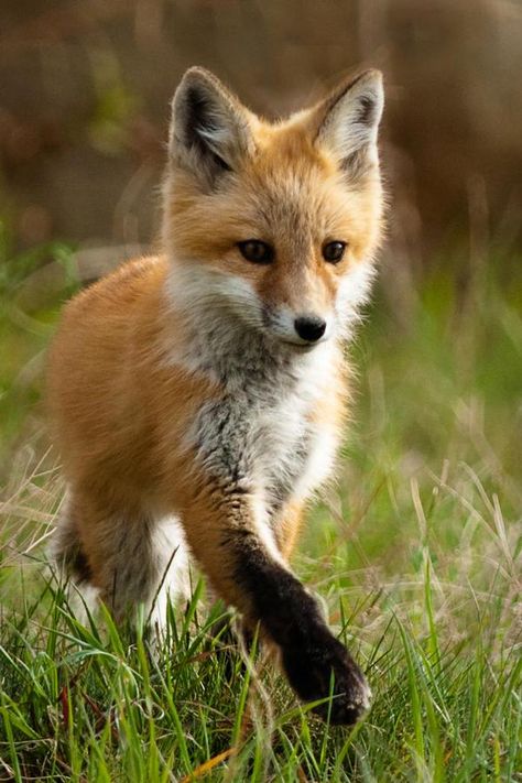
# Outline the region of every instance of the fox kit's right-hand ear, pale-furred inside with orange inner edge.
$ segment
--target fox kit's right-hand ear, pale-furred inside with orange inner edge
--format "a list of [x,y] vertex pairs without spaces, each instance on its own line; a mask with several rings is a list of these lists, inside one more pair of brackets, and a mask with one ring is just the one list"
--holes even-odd
[[315,144],[326,148],[351,178],[377,162],[383,106],[382,74],[366,70],[313,109]]

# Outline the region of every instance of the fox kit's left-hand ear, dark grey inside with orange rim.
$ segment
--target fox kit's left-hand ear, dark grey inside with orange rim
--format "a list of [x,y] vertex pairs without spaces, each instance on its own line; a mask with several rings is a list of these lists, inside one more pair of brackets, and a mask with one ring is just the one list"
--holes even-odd
[[189,68],[172,101],[170,155],[202,184],[214,186],[253,148],[254,116],[205,68]]

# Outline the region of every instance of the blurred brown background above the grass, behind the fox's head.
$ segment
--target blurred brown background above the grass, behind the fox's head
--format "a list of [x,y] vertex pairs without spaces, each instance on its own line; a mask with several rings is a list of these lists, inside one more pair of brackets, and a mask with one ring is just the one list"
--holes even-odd
[[269,117],[385,72],[392,242],[522,243],[518,0],[2,0],[1,211],[19,247],[149,242],[168,101],[214,69]]

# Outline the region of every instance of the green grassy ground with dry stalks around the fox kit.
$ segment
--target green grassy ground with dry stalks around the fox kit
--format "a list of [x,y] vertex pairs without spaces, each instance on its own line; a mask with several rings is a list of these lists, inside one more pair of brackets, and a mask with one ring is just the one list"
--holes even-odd
[[[42,252],[70,290],[67,250]],[[43,570],[63,489],[37,399],[63,292],[34,285],[39,261],[3,264],[0,779],[522,780],[522,281],[493,254],[465,286],[449,262],[418,287],[388,275],[351,349],[338,490],[295,561],[372,685],[348,730],[211,640],[203,584],[151,654],[80,622]]]

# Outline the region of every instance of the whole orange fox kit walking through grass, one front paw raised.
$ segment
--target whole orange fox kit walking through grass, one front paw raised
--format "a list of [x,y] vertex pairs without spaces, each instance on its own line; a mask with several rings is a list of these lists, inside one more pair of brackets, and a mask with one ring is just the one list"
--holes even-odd
[[269,123],[191,68],[163,252],[72,301],[48,373],[68,485],[57,561],[116,618],[154,601],[161,622],[194,557],[302,699],[333,693],[317,711],[339,724],[370,692],[287,561],[342,434],[342,344],[380,235],[382,104],[368,70]]

